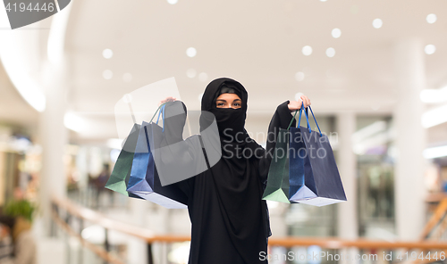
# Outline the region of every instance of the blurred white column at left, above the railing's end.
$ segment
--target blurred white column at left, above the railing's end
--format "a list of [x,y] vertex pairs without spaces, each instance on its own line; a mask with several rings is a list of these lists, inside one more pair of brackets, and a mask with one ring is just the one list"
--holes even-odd
[[42,235],[49,235],[51,195],[66,196],[66,174],[63,165],[68,131],[63,126],[66,109],[67,82],[63,65],[44,66],[46,109],[39,116],[39,139],[42,145],[42,170],[39,183],[39,207],[42,210]]

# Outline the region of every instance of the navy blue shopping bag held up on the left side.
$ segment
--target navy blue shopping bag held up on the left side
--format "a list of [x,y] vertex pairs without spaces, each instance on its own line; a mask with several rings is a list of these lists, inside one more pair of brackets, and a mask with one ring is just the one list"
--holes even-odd
[[[160,142],[163,139],[162,134],[160,133],[154,134],[148,132],[154,129],[152,127],[160,128],[158,126],[158,120],[160,114],[164,111],[164,104],[162,104],[158,110],[159,114],[156,123],[153,123],[152,120],[150,120],[149,123],[145,121],[142,122],[132,163],[131,179],[127,191],[166,208],[187,208],[188,198],[181,192],[178,186],[161,186],[156,171],[154,155],[150,151],[149,137],[156,142]],[[155,115],[156,114],[154,114],[154,116]],[[154,117],[152,119],[154,119]]]

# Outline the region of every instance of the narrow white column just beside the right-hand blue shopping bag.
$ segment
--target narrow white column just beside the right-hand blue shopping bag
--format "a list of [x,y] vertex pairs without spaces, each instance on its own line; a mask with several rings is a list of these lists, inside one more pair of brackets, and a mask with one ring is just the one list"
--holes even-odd
[[[344,192],[347,202],[338,204],[338,235],[344,239],[354,240],[358,238],[357,217],[357,157],[352,151],[351,136],[356,132],[356,114],[353,111],[345,111],[337,114],[337,166],[342,177]],[[343,256],[358,254],[358,249],[346,249],[342,251]],[[354,263],[343,257],[341,263]]]

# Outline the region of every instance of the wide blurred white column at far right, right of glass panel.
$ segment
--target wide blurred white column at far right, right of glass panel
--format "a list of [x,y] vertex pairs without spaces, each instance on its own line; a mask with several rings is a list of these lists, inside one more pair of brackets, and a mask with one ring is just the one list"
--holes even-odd
[[426,87],[424,46],[418,40],[395,45],[397,103],[393,123],[397,161],[394,175],[396,229],[401,240],[416,240],[424,227],[426,130],[421,126],[424,104],[420,91]]

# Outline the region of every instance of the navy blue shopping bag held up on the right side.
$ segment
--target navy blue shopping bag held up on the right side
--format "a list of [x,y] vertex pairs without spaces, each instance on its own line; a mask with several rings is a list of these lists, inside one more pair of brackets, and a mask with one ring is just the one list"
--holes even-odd
[[[344,202],[346,195],[329,139],[321,133],[317,123],[318,132],[312,131],[306,112],[308,128],[299,127],[303,108],[304,105],[299,110],[297,128],[291,128],[290,135],[290,201],[315,206]],[[308,108],[316,122],[314,112],[310,106]]]

